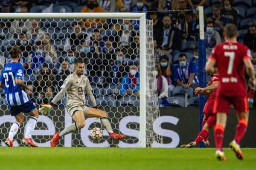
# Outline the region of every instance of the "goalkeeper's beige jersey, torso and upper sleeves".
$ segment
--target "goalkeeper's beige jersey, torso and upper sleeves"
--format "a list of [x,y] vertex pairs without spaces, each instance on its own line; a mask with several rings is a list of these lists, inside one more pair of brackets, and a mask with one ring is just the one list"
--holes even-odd
[[78,77],[76,74],[70,74],[64,81],[61,88],[67,94],[67,106],[84,105],[84,91],[91,89],[88,78],[84,75]]

